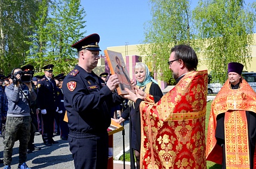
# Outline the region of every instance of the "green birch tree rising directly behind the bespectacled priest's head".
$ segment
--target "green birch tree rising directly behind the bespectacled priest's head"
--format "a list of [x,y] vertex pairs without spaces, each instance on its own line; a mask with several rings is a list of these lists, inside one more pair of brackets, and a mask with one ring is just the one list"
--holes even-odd
[[[178,44],[193,44],[190,2],[186,0],[150,0],[152,20],[145,27],[145,39],[139,51],[146,64],[160,76],[158,79],[174,83],[167,64],[170,49]],[[161,70],[161,71],[159,71]]]

